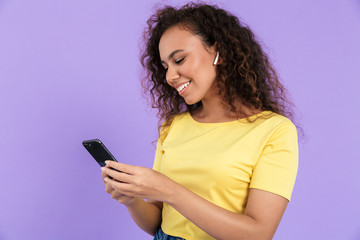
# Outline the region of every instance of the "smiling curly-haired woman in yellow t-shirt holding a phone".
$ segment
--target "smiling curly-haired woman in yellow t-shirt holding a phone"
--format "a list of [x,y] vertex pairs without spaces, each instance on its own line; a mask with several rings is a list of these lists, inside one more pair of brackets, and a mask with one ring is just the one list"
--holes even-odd
[[164,120],[154,167],[108,161],[106,192],[155,239],[272,239],[298,145],[266,54],[236,17],[204,4],[158,10],[144,36],[143,86]]

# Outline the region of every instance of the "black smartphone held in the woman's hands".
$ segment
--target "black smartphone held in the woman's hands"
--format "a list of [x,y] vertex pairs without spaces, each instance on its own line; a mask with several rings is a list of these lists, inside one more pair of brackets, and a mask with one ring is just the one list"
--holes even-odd
[[116,161],[115,157],[105,147],[99,139],[85,140],[82,142],[83,146],[95,158],[101,167],[104,167],[106,160]]

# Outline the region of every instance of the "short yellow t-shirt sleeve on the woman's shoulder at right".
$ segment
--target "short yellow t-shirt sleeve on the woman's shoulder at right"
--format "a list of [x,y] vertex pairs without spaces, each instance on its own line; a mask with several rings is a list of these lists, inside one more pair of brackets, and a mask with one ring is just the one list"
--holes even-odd
[[290,201],[298,170],[297,130],[292,122],[281,124],[269,137],[255,164],[250,188],[278,194]]

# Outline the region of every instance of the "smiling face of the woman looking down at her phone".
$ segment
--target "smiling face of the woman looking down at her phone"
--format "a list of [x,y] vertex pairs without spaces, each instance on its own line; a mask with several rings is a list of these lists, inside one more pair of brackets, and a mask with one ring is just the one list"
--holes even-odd
[[159,51],[167,83],[187,104],[217,96],[214,47],[206,47],[199,36],[174,26],[162,35]]

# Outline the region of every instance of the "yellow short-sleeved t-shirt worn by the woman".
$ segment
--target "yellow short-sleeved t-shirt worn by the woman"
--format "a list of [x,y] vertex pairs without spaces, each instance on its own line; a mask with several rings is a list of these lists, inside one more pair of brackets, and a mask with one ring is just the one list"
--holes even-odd
[[[250,118],[257,119],[200,123],[189,112],[177,115],[158,140],[154,170],[239,214],[245,211],[249,188],[290,200],[298,168],[296,127],[271,111]],[[161,228],[187,240],[214,239],[166,203]]]

